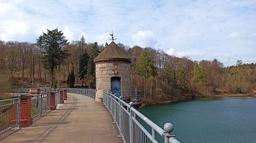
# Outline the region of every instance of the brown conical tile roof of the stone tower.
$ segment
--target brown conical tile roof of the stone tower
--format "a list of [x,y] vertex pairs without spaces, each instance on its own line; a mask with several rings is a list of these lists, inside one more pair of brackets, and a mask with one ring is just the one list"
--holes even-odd
[[113,41],[94,59],[94,62],[106,60],[131,62],[131,59]]

